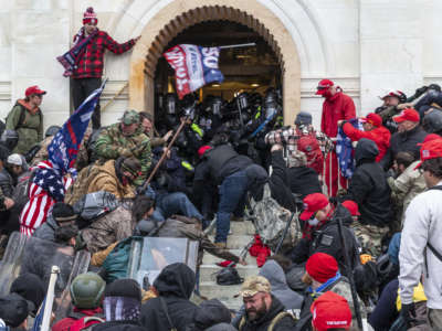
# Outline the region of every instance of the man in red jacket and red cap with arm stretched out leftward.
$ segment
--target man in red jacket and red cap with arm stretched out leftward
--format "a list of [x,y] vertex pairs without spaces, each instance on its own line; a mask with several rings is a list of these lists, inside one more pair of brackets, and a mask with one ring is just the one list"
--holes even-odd
[[375,113],[368,114],[359,119],[362,122],[364,131],[356,129],[352,125],[345,120],[339,120],[338,125],[343,127],[344,134],[351,141],[358,141],[361,138],[367,138],[377,145],[379,154],[376,157],[376,162],[382,160],[388,148],[390,147],[390,131],[382,126],[382,118]]

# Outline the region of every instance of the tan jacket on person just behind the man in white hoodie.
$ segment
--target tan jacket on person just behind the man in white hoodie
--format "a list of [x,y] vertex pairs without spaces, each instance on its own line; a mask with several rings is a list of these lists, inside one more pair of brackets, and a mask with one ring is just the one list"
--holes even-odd
[[388,184],[391,189],[391,196],[398,204],[402,204],[401,220],[411,200],[427,189],[425,180],[419,169],[414,170],[420,160],[411,163],[397,179],[389,178]]

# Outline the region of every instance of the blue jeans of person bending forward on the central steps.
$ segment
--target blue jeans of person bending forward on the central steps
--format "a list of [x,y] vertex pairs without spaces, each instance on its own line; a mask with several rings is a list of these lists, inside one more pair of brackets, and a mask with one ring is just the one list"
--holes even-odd
[[244,207],[249,179],[244,170],[227,177],[220,186],[220,203],[217,213],[215,243],[225,243],[230,231],[230,214]]

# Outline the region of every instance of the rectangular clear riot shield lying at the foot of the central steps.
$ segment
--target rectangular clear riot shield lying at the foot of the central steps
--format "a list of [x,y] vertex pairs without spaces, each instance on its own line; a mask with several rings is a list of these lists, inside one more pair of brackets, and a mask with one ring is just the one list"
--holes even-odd
[[198,242],[187,238],[143,237],[131,242],[128,276],[148,288],[161,270],[175,263],[183,263],[197,270]]

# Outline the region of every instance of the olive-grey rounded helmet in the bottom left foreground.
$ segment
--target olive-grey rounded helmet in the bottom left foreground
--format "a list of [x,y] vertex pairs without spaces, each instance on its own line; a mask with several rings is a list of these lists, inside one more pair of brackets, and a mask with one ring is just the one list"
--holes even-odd
[[81,309],[97,308],[102,301],[106,282],[94,273],[78,275],[71,284],[72,303]]

